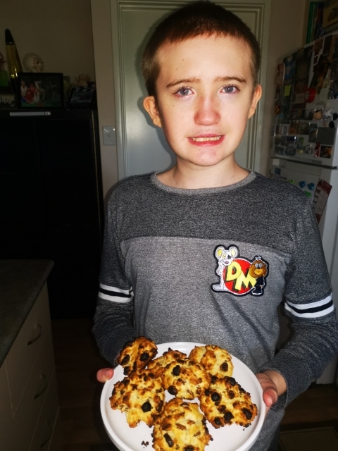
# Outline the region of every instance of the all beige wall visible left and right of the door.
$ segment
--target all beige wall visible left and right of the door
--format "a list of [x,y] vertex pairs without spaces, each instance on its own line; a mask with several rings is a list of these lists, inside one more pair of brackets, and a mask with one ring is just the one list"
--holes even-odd
[[[3,3],[1,53],[6,56],[4,30],[9,28],[20,57],[30,51],[39,54],[44,60],[44,72],[62,72],[70,76],[71,82],[80,73],[88,73],[98,85],[100,131],[103,125],[115,125],[110,0],[11,0]],[[302,44],[308,3],[309,0],[271,2],[262,173],[266,171],[268,159],[277,59]],[[115,146],[101,143],[101,163],[106,194],[118,181]]]

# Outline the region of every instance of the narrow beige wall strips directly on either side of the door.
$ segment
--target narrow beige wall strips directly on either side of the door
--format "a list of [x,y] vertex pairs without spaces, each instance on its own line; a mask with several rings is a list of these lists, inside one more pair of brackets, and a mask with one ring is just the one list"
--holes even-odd
[[[110,0],[91,0],[100,125],[115,125]],[[303,43],[308,0],[272,0],[261,173],[266,173],[278,58]],[[305,20],[307,23],[307,18]],[[115,146],[101,145],[104,194],[118,181]]]

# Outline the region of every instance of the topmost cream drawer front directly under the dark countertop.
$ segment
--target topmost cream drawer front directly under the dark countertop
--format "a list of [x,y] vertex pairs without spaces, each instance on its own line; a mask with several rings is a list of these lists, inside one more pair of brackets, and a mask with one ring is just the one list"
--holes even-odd
[[[18,408],[20,397],[23,395],[44,339],[50,333],[48,292],[44,285],[6,357],[13,413]],[[51,350],[51,356],[53,356],[53,350]]]

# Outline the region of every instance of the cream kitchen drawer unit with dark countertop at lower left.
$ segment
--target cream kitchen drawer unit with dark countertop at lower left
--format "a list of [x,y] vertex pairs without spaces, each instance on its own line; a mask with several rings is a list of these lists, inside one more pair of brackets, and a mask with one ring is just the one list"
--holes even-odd
[[0,451],[61,451],[46,286],[52,267],[0,260]]

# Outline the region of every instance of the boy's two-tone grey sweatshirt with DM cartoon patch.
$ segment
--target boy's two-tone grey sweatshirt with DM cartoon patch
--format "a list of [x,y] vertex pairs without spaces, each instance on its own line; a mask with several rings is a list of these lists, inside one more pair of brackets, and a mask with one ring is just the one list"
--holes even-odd
[[[294,335],[276,354],[277,307]],[[127,340],[219,345],[254,372],[287,381],[253,450],[268,449],[285,405],[338,351],[332,288],[311,204],[258,173],[181,190],[156,174],[111,194],[94,335],[111,364]]]

